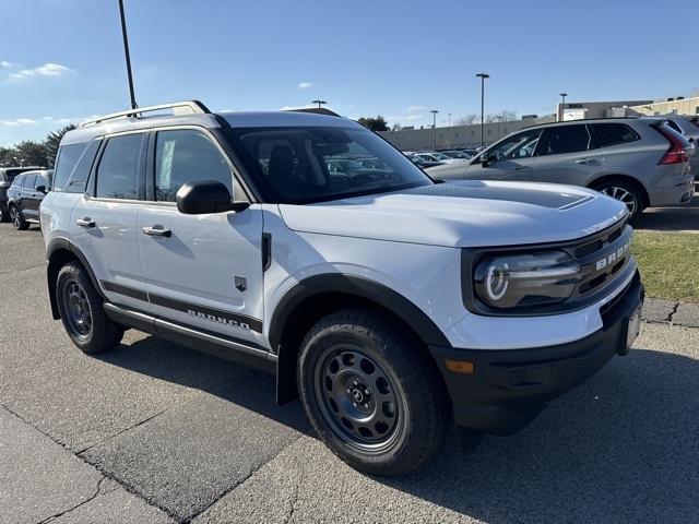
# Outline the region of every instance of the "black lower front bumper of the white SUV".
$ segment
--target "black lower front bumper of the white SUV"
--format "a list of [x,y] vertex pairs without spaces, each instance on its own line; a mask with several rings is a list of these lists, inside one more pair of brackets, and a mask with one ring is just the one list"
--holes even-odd
[[[493,434],[512,434],[524,428],[547,403],[587,381],[614,355],[626,355],[632,342],[629,332],[638,329],[643,296],[637,273],[614,302],[600,311],[603,327],[567,344],[508,350],[430,346],[451,396],[457,426]],[[449,371],[447,360],[472,362],[473,372]]]

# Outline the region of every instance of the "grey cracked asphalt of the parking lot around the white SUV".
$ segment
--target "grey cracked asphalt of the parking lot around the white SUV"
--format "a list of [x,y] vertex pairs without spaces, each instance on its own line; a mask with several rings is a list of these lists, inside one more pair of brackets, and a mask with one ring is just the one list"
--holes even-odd
[[[639,228],[697,230],[697,200]],[[387,480],[336,460],[298,401],[277,407],[270,376],[133,331],[81,354],[36,227],[0,224],[0,289],[2,523],[699,522],[696,327],[645,322],[517,436],[462,455],[452,432]]]

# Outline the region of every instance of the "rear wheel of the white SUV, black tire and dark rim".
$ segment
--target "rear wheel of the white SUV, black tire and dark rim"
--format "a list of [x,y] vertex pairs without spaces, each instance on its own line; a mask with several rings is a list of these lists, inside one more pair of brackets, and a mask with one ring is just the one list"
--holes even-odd
[[102,297],[80,263],[61,267],[56,299],[63,327],[83,353],[103,353],[121,342],[123,329],[105,314]]

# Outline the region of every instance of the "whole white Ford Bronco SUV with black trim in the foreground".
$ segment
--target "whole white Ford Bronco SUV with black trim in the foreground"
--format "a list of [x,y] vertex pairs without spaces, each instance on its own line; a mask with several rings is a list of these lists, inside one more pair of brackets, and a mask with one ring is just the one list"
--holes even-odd
[[191,102],[84,122],[40,213],[79,348],[138,329],[275,373],[280,403],[300,394],[330,449],[380,475],[417,467],[451,420],[464,449],[518,431],[639,329],[623,203],[438,184],[340,117]]

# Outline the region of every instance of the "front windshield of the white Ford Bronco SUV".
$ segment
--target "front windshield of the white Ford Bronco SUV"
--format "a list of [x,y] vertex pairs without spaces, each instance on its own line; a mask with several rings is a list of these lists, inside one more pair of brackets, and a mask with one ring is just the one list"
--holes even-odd
[[320,202],[433,183],[405,155],[364,128],[248,128],[228,133],[274,202]]

